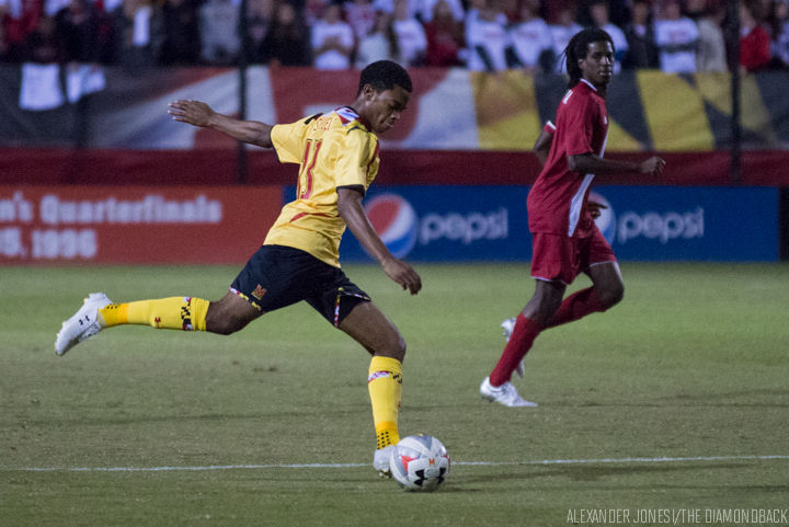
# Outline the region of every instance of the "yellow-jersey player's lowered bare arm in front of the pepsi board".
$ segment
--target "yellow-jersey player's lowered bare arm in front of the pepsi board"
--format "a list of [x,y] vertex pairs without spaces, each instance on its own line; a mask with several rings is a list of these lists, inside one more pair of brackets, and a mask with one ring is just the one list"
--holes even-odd
[[422,289],[422,278],[409,264],[396,259],[373,229],[362,207],[362,192],[355,188],[338,188],[338,210],[351,232],[381,265],[384,273],[400,287],[416,295]]

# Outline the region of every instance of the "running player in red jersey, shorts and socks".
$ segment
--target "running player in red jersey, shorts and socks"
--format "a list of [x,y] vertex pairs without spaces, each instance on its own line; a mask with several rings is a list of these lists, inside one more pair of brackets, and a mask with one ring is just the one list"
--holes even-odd
[[[550,150],[527,201],[535,293],[516,318],[499,363],[480,386],[484,399],[505,406],[536,405],[518,394],[510,378],[542,330],[605,311],[622,298],[619,265],[594,224],[594,207],[587,204],[595,174],[654,176],[665,165],[659,157],[639,163],[603,159],[608,134],[605,94],[615,53],[608,33],[583,30],[564,53],[569,90],[557,110],[552,140],[546,127],[535,145],[540,159],[547,145]],[[567,286],[581,272],[592,278],[592,287],[564,298]]]

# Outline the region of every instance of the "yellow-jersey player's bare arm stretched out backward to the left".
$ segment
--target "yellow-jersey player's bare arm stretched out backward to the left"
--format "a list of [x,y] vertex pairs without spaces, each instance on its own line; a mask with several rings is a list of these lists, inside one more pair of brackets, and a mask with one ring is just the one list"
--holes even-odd
[[214,128],[239,141],[272,148],[272,125],[259,121],[242,121],[216,113],[201,101],[180,100],[170,103],[168,113],[173,121],[188,123],[201,128]]

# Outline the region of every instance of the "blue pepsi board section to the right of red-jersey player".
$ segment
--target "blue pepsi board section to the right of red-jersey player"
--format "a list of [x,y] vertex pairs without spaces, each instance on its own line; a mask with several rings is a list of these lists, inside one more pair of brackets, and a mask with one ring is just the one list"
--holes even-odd
[[619,260],[775,262],[778,190],[599,186],[597,227]]

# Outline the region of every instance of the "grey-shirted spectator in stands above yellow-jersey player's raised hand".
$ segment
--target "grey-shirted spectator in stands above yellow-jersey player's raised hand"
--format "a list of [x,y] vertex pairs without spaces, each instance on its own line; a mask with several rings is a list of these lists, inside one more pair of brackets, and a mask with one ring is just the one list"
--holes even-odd
[[241,50],[239,5],[232,0],[206,0],[199,8],[201,58],[215,66],[236,62]]

